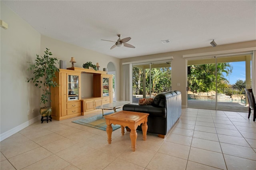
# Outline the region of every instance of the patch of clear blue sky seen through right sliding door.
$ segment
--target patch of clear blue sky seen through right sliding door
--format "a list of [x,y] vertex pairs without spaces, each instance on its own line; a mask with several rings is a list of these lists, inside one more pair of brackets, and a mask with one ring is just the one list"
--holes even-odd
[[226,77],[226,73],[223,73],[227,80],[229,80],[230,84],[233,85],[237,80],[245,80],[245,61],[239,62],[231,62],[233,66],[233,70],[230,76]]

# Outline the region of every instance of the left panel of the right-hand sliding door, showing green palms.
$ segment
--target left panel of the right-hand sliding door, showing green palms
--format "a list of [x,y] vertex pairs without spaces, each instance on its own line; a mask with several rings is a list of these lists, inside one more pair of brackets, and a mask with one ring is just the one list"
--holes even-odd
[[188,107],[216,108],[215,57],[188,61]]

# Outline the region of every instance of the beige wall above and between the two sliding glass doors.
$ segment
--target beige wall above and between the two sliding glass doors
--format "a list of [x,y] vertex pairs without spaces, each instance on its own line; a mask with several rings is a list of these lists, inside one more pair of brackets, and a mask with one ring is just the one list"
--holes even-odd
[[[193,58],[193,57],[184,58],[183,55],[209,53],[209,52],[219,53],[218,51],[228,51],[228,50],[244,49],[244,48],[250,48],[250,47],[255,48],[256,41],[218,45],[216,47],[210,46],[210,43],[209,43],[209,47],[204,47],[204,48],[188,49],[188,50],[182,50],[182,51],[174,51],[174,52],[168,52],[168,53],[159,53],[159,54],[153,54],[153,55],[125,58],[125,59],[121,59],[121,64],[126,63],[126,62],[141,61],[144,59],[156,59],[156,58],[161,58],[161,57],[173,56],[173,60],[172,60],[172,64],[171,64],[171,67],[172,67],[172,90],[181,91],[182,107],[186,107],[186,83],[187,83],[186,59]],[[227,53],[222,53],[222,54],[227,54]],[[204,55],[204,56],[207,56],[207,55]],[[195,57],[198,57],[198,56],[195,56]],[[200,56],[200,57],[202,57],[202,56]],[[121,74],[123,74],[122,68],[121,68],[121,72],[122,72]],[[121,77],[121,82],[123,82],[122,77]],[[180,83],[180,86],[177,85],[178,83]],[[122,91],[123,86],[121,85],[120,88]],[[123,96],[121,96],[121,99],[123,99]]]

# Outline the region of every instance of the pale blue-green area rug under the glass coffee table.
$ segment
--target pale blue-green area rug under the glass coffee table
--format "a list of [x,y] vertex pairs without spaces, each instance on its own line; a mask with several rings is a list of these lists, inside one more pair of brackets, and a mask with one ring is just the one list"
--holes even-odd
[[[105,115],[110,115],[111,113],[114,113],[114,111],[110,112],[110,113],[104,113],[104,116]],[[78,120],[72,121],[72,122],[73,123],[78,123],[80,125],[88,126],[88,127],[98,128],[98,129],[105,130],[105,131],[106,131],[106,128],[107,128],[106,120],[105,120],[104,117],[102,117],[102,114],[95,115],[95,116],[88,117],[88,118],[84,118],[84,119],[78,119]],[[120,128],[120,127],[121,127],[120,125],[113,125],[112,124],[113,131]]]

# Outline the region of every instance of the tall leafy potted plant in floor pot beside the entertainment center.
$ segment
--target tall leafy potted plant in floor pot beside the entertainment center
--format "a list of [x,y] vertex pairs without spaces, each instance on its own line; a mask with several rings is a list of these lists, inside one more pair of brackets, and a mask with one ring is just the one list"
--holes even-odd
[[[46,120],[48,123],[49,118],[50,121],[52,121],[52,108],[47,107],[46,103],[49,101],[48,97],[51,94],[50,87],[58,86],[58,83],[53,80],[54,77],[56,77],[55,72],[59,71],[59,69],[55,66],[55,64],[58,63],[58,59],[50,57],[50,55],[52,55],[52,52],[50,52],[50,49],[46,48],[46,51],[44,51],[44,56],[39,56],[36,54],[36,62],[30,64],[28,67],[28,70],[33,71],[34,76],[28,79],[27,82],[32,81],[36,87],[42,87],[42,95],[40,99],[40,106],[42,104],[44,105],[44,107],[40,108],[42,123],[44,120]],[[46,119],[44,119],[44,117],[46,117]]]

